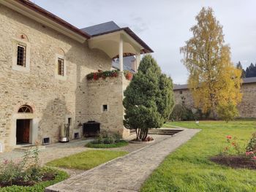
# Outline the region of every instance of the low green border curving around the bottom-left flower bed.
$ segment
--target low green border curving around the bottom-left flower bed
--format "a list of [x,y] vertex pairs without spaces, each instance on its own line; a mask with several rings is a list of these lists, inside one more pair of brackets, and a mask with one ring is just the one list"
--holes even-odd
[[56,177],[54,180],[50,181],[42,181],[40,183],[37,183],[33,186],[17,186],[17,185],[12,185],[10,187],[5,187],[5,188],[0,188],[0,192],[31,192],[31,191],[37,191],[37,192],[43,192],[45,188],[47,188],[50,185],[53,185],[55,183],[59,183],[62,180],[66,180],[69,175],[66,172],[63,172],[61,170],[57,169],[52,169],[52,168],[45,168],[46,170],[50,170],[56,173]]

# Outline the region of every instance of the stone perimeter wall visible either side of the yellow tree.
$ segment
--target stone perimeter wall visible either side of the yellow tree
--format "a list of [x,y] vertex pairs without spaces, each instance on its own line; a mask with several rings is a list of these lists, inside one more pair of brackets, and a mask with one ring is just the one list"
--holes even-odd
[[[192,94],[187,85],[174,85],[173,88],[176,104],[185,104],[189,108],[194,107]],[[238,112],[241,118],[256,118],[256,77],[244,78],[241,85],[243,98],[238,104]]]

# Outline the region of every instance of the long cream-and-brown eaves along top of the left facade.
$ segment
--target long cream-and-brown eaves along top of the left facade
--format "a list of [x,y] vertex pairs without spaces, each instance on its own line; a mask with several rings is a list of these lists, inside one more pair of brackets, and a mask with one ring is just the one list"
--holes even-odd
[[61,18],[53,15],[52,13],[42,9],[42,7],[37,6],[28,0],[0,0],[0,4],[3,4],[10,9],[19,12],[22,15],[26,15],[28,18],[36,20],[45,26],[53,28],[61,34],[66,35],[78,42],[85,42],[89,39],[89,34],[86,34],[80,29],[72,26]]

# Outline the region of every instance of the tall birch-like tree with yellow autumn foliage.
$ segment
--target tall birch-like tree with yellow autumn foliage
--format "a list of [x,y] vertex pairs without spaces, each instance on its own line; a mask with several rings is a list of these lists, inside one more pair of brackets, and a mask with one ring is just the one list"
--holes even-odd
[[215,116],[218,106],[231,104],[236,109],[241,101],[241,70],[231,62],[230,47],[224,44],[222,26],[213,10],[203,7],[196,20],[191,28],[193,37],[181,47],[182,61],[189,71],[188,84],[195,107]]

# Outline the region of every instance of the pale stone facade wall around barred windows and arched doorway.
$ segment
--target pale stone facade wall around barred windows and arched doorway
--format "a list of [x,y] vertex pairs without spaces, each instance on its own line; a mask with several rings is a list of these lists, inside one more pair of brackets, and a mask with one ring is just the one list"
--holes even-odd
[[[21,35],[26,37],[21,39]],[[28,72],[13,69],[14,42],[26,41],[30,47]],[[80,132],[78,121],[86,122],[88,88],[86,74],[109,70],[111,59],[99,50],[90,50],[51,28],[0,5],[0,143],[5,150],[15,147],[16,120],[32,120],[33,142],[59,139],[59,128],[72,118],[71,137]],[[56,78],[56,54],[63,54],[67,77]],[[120,99],[121,100],[121,99]],[[21,105],[33,108],[20,114]]]

